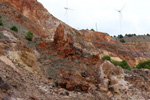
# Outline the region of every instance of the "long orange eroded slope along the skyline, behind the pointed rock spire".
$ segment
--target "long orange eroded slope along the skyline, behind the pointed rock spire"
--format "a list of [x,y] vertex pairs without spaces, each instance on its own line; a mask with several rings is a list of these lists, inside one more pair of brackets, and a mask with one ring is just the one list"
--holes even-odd
[[[112,40],[107,33],[86,30],[77,31],[48,13],[37,0],[1,0],[0,3],[2,3],[0,5],[2,14],[12,17],[13,20],[25,25],[30,31],[45,39],[53,40],[55,30],[61,23],[64,26],[65,40],[68,35],[69,37],[74,35],[72,38],[76,43],[73,43],[73,45],[76,45],[76,48],[80,48],[84,52],[90,52],[95,55],[101,54],[101,56],[105,56],[103,54],[105,51],[110,52],[109,56],[126,60],[130,66],[136,66],[141,58],[148,60],[150,57],[148,43],[142,43],[139,46],[138,44],[123,45]],[[11,15],[9,15],[10,13]]]

